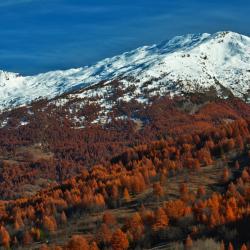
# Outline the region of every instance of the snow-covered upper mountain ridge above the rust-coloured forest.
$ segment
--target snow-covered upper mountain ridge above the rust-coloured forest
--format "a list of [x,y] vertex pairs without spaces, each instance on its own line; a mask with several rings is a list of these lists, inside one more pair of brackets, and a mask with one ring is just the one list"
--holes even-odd
[[250,101],[250,38],[233,32],[177,36],[83,68],[35,76],[0,71],[0,109],[113,79],[136,86],[137,97],[145,88],[170,95],[213,88]]

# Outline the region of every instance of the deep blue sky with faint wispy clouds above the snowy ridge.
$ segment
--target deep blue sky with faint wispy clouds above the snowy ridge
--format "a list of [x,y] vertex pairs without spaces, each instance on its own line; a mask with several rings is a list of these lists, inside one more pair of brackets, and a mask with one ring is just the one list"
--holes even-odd
[[0,0],[0,69],[89,65],[175,35],[250,35],[249,0]]

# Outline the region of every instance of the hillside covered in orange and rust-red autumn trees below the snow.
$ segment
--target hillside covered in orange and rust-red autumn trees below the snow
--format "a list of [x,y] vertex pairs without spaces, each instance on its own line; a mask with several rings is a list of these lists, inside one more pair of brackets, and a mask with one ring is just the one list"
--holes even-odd
[[248,104],[157,97],[82,128],[73,115],[47,101],[2,114],[3,247],[247,249]]

